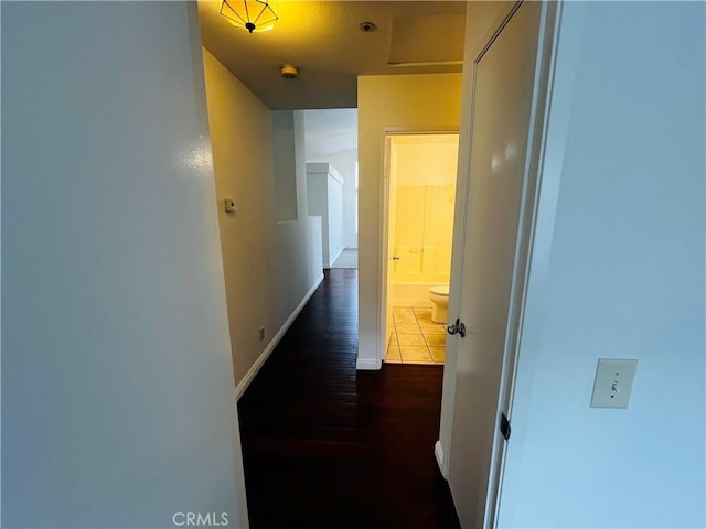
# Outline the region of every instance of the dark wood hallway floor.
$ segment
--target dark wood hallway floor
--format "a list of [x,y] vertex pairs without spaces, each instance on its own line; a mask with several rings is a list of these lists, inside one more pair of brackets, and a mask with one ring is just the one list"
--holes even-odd
[[434,458],[442,367],[356,373],[356,290],[327,272],[238,402],[253,529],[459,527]]

